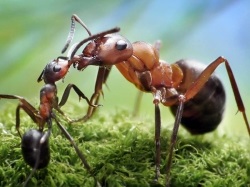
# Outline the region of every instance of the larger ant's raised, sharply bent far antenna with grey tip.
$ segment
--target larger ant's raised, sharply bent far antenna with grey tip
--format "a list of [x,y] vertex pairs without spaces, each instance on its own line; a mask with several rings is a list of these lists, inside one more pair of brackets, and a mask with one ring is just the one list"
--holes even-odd
[[76,27],[75,22],[78,22],[81,26],[83,26],[83,28],[85,28],[85,30],[87,31],[87,33],[89,34],[89,36],[92,35],[91,32],[90,32],[90,30],[84,24],[84,22],[76,14],[73,14],[72,17],[71,17],[71,26],[70,26],[69,35],[68,35],[68,38],[66,40],[66,44],[65,44],[64,48],[62,49],[62,53],[64,53],[68,49],[69,44],[72,42],[72,40],[74,38],[75,27]]

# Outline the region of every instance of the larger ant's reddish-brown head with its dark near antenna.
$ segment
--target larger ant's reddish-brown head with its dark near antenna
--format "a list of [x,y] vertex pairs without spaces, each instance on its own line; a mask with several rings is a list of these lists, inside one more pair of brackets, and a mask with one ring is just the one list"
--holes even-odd
[[[124,37],[116,34],[120,28],[113,28],[99,34],[91,35],[79,42],[70,55],[70,61],[78,70],[88,65],[114,65],[130,58],[133,54],[132,44]],[[91,41],[90,41],[91,40]],[[90,41],[79,56],[78,49]]]

